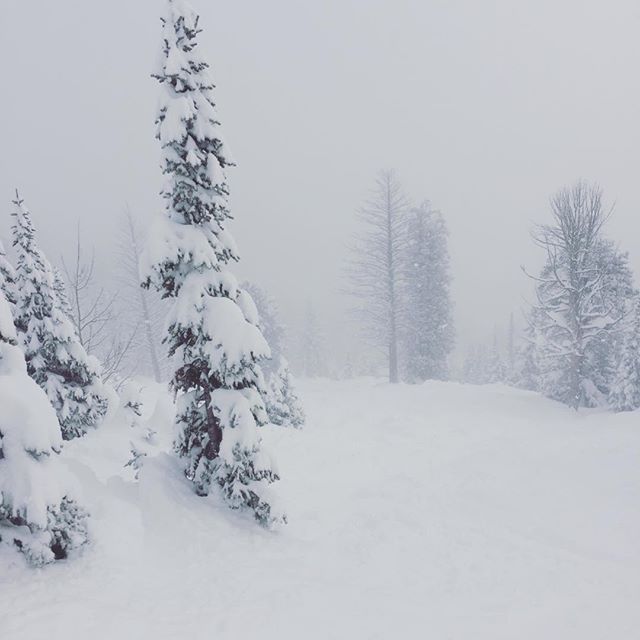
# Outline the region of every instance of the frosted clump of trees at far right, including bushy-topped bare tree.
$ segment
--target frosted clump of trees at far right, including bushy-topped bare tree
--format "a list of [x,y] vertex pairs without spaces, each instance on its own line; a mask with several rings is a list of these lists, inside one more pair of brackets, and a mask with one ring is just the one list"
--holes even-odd
[[[640,407],[640,294],[629,257],[606,237],[612,209],[602,190],[577,182],[550,201],[551,222],[534,227],[544,252],[526,275],[534,296],[519,338],[511,317],[507,346],[497,338],[467,354],[463,379],[507,382],[571,407]],[[505,353],[506,352],[506,353]]]

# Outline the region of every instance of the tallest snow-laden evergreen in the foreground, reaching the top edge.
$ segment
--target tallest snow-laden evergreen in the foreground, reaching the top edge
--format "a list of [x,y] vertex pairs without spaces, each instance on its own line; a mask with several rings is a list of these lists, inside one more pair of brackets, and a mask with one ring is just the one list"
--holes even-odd
[[251,296],[228,270],[238,251],[231,219],[214,85],[200,57],[197,14],[169,0],[155,77],[163,92],[157,118],[166,183],[166,215],[143,258],[145,286],[173,298],[165,341],[177,368],[176,441],[185,474],[200,495],[212,485],[230,507],[246,508],[264,525],[284,519],[268,485],[278,472],[258,425],[267,420],[259,361],[269,347]]

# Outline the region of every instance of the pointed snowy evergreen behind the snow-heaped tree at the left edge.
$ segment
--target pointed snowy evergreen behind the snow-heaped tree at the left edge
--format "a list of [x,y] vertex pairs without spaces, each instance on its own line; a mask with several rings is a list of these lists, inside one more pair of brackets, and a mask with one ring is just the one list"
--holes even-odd
[[97,426],[107,411],[100,366],[87,355],[56,293],[53,270],[38,248],[31,214],[14,201],[17,266],[15,325],[29,375],[44,389],[65,440]]

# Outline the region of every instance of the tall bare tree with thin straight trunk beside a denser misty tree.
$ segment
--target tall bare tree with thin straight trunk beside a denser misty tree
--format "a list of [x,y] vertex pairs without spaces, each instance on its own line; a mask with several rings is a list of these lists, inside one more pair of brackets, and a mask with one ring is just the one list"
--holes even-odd
[[370,198],[358,210],[362,229],[351,246],[349,293],[365,338],[382,346],[388,357],[389,381],[398,382],[398,338],[401,325],[401,254],[406,245],[407,199],[393,171],[381,171]]

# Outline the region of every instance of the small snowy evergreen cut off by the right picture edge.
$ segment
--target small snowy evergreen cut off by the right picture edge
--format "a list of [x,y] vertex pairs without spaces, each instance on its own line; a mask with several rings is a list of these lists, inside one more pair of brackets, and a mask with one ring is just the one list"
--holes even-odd
[[626,323],[624,347],[609,391],[609,406],[615,411],[640,407],[640,300]]

